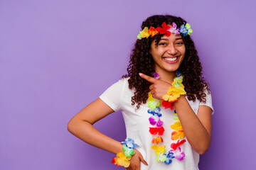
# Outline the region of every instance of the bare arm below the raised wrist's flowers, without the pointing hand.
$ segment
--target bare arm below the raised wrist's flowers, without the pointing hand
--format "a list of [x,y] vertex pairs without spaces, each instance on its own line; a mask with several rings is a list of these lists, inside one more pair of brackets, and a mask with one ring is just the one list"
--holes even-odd
[[174,102],[179,120],[191,147],[204,154],[210,147],[211,138],[211,108],[199,106],[197,115],[193,112],[185,96]]

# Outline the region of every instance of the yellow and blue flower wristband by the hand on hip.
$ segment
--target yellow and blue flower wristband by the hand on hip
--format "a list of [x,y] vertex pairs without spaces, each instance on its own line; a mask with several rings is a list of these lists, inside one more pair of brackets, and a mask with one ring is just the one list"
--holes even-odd
[[122,149],[124,152],[119,152],[117,157],[113,157],[112,164],[127,168],[130,164],[129,160],[132,158],[132,155],[135,154],[134,148],[137,147],[137,144],[129,137],[124,142],[121,142],[121,144],[123,145]]

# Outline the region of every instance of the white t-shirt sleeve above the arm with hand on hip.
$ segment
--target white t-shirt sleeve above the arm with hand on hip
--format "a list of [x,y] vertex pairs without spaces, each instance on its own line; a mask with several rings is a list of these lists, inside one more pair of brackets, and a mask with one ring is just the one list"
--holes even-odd
[[106,91],[100,95],[100,99],[104,101],[113,111],[119,111],[121,107],[121,96],[124,91],[124,79],[120,79],[115,84],[112,84]]

